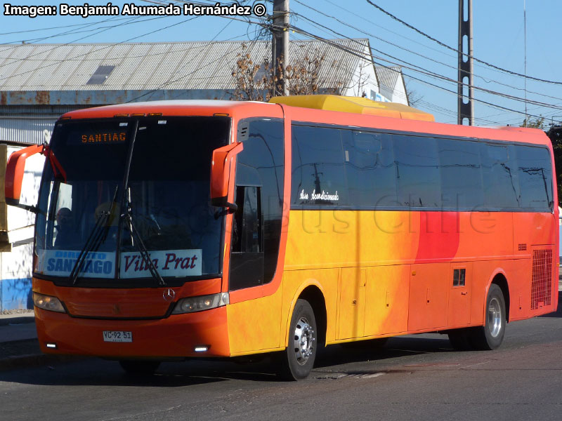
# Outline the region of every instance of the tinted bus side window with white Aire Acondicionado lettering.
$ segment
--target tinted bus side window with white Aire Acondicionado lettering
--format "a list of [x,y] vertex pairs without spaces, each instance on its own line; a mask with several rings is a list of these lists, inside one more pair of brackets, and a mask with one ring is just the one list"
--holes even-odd
[[295,205],[346,205],[347,182],[341,130],[292,127],[292,189]]

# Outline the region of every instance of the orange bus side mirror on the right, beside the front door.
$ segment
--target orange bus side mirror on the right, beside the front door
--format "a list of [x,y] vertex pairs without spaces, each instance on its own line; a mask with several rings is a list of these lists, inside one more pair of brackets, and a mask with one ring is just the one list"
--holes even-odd
[[234,173],[234,158],[242,152],[242,143],[231,143],[213,151],[211,163],[211,205],[236,211],[235,203],[228,202],[228,183]]

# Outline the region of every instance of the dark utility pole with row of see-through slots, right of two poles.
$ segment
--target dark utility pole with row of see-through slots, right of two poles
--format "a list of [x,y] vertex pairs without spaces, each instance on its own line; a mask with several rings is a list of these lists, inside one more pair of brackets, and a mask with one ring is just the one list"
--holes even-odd
[[[466,13],[465,5],[467,6]],[[472,86],[472,0],[459,0],[459,98],[457,99],[457,123],[459,124],[463,124],[465,119],[468,119],[469,126],[474,123]]]

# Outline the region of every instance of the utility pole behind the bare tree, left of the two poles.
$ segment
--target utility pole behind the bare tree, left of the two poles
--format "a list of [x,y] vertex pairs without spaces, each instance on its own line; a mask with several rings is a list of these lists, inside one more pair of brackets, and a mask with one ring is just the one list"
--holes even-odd
[[289,95],[285,83],[285,66],[289,62],[289,0],[273,0],[273,28],[271,28],[273,74],[277,76],[275,95]]

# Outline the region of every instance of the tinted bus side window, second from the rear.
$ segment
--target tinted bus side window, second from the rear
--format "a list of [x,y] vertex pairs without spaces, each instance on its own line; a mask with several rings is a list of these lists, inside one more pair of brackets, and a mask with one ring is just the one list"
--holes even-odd
[[518,204],[518,182],[513,148],[482,143],[480,156],[484,185],[484,207],[515,209]]

